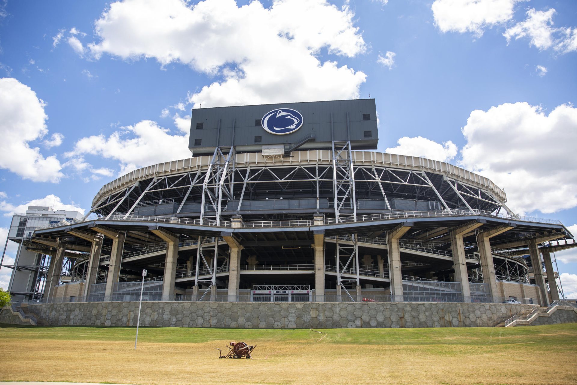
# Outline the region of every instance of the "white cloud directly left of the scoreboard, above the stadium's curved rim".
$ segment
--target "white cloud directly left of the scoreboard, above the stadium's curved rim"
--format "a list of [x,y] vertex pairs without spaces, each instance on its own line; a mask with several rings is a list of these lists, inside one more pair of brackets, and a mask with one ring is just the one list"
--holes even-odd
[[171,135],[170,130],[149,120],[134,126],[122,127],[106,137],[95,135],[76,142],[74,150],[66,156],[100,155],[118,160],[121,174],[138,167],[170,160],[190,158],[187,135]]

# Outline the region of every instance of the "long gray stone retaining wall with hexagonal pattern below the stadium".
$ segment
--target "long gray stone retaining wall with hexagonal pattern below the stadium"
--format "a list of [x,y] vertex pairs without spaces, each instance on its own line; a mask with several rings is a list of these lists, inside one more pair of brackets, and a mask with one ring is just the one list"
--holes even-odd
[[[141,326],[492,327],[529,305],[415,302],[143,302]],[[138,302],[29,305],[52,326],[135,326]]]

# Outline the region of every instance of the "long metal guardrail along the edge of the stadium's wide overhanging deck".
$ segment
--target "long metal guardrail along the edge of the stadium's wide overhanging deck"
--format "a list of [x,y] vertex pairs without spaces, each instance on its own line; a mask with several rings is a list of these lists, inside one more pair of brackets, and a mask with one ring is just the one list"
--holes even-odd
[[[496,214],[484,210],[447,210],[440,211],[399,211],[389,212],[383,214],[361,215],[357,218],[325,218],[325,219],[308,219],[308,220],[261,220],[256,222],[228,222],[226,220],[209,220],[209,219],[195,219],[195,218],[175,218],[173,216],[153,216],[153,215],[130,215],[124,218],[124,215],[111,215],[110,218],[100,218],[102,220],[122,220],[125,222],[153,222],[153,223],[175,223],[178,225],[194,225],[194,226],[209,226],[209,227],[239,227],[239,228],[271,228],[271,227],[309,227],[319,225],[335,225],[338,223],[356,223],[356,222],[372,222],[376,220],[388,219],[410,219],[410,218],[432,218],[432,217],[447,217],[447,216],[470,216],[481,215],[492,218],[503,218],[509,220],[524,220],[526,222],[536,223],[550,223],[554,225],[561,225],[561,222],[556,219],[534,218],[530,216]],[[87,221],[90,222],[90,221]],[[73,221],[73,223],[80,223],[80,221]],[[48,226],[37,227],[36,230],[49,229],[51,227],[59,227],[68,225],[68,223],[53,223]]]

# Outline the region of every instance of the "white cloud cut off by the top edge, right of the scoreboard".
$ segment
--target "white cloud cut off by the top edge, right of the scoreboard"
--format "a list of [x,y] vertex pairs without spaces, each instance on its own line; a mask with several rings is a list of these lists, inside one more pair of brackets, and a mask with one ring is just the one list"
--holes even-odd
[[486,28],[511,20],[515,4],[524,0],[435,0],[434,22],[441,32],[483,35]]

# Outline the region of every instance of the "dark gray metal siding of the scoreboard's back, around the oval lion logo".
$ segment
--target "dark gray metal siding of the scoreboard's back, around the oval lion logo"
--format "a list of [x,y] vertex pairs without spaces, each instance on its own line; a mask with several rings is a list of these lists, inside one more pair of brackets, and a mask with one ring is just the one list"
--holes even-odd
[[[302,114],[304,123],[297,131],[275,135],[256,126],[255,120],[278,108],[290,108]],[[347,114],[350,133],[347,133]],[[364,121],[363,114],[370,114],[370,120]],[[331,115],[333,133],[331,133]],[[196,124],[203,122],[203,129]],[[219,128],[220,122],[220,128]],[[234,126],[234,132],[233,132]],[[259,104],[256,106],[215,107],[194,109],[190,125],[189,147],[193,154],[212,154],[217,146],[237,146],[237,151],[260,151],[262,145],[295,143],[302,137],[314,133],[316,141],[303,148],[329,148],[332,140],[351,140],[353,148],[376,148],[377,113],[374,99],[334,100],[328,102]],[[365,138],[365,130],[372,137]],[[349,137],[350,134],[350,137]],[[261,136],[261,143],[254,143],[254,137]],[[200,146],[194,146],[194,140],[201,139]]]

